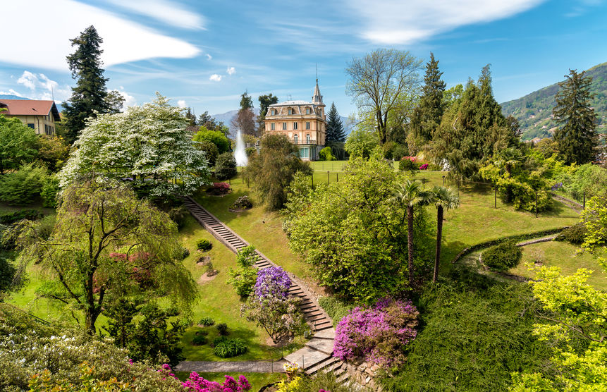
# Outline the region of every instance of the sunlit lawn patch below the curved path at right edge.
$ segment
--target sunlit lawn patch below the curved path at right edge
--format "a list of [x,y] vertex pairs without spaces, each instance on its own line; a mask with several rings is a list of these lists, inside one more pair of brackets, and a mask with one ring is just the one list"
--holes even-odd
[[529,271],[525,265],[540,262],[549,267],[559,267],[563,275],[572,275],[580,268],[590,269],[592,272],[588,283],[598,290],[607,290],[607,275],[597,262],[596,257],[589,253],[578,255],[580,247],[561,241],[549,241],[527,245],[522,248],[522,261],[518,267],[510,269],[510,274],[534,278],[535,272]]

